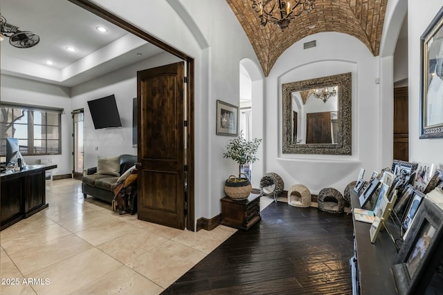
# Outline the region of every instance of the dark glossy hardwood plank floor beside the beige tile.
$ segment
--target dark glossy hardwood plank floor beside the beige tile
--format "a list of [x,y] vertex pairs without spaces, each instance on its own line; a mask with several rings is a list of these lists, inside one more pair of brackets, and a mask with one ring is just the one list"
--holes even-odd
[[272,203],[162,294],[352,294],[352,216]]

